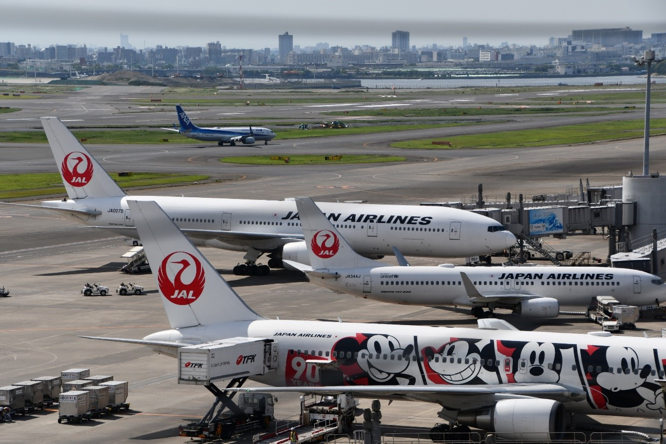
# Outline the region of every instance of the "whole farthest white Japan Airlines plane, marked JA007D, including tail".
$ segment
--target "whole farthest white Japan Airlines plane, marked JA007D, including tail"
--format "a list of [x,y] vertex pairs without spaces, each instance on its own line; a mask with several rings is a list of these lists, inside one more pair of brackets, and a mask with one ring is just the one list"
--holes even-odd
[[[268,274],[282,258],[303,262],[307,248],[293,200],[127,196],[55,117],[42,118],[69,199],[41,202],[87,226],[137,238],[127,199],[155,200],[196,244],[245,251],[236,274]],[[25,206],[25,204],[20,204]],[[466,257],[515,244],[499,222],[464,210],[432,206],[320,203],[361,254]],[[256,260],[268,254],[268,266]]]

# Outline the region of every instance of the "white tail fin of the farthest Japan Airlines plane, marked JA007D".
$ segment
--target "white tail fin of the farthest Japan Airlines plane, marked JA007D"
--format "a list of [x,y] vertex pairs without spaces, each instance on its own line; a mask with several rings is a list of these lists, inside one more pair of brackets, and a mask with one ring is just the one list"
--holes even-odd
[[57,117],[42,117],[41,122],[70,199],[125,196],[63,122]]

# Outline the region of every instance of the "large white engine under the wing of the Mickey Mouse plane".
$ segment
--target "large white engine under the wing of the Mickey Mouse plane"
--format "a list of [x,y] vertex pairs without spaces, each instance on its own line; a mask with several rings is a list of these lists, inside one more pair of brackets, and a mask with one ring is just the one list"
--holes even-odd
[[565,419],[564,405],[552,399],[503,399],[458,413],[458,423],[494,431],[498,438],[542,443],[562,439]]

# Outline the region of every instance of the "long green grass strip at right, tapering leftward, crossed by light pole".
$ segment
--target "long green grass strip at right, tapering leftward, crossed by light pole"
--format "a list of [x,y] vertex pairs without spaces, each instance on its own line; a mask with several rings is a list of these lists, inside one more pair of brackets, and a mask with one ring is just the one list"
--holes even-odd
[[[650,120],[650,134],[666,134],[666,118]],[[556,126],[533,130],[515,130],[490,132],[488,134],[469,134],[451,136],[446,140],[452,147],[434,145],[428,138],[406,140],[391,144],[396,148],[419,149],[457,149],[457,148],[516,148],[521,146],[566,145],[595,142],[597,140],[615,140],[643,136],[643,120],[621,120],[619,122],[596,122],[577,125]]]

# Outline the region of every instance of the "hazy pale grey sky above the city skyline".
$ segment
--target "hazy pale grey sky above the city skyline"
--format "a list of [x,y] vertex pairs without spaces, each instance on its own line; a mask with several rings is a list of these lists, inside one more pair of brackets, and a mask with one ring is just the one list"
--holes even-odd
[[0,41],[111,48],[122,33],[137,50],[214,41],[276,48],[284,32],[300,47],[382,47],[396,30],[409,31],[416,47],[457,47],[463,37],[541,46],[573,29],[618,27],[642,30],[644,38],[666,32],[666,0],[11,0],[0,12]]

